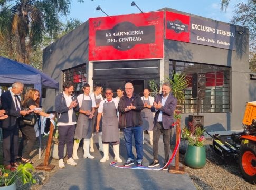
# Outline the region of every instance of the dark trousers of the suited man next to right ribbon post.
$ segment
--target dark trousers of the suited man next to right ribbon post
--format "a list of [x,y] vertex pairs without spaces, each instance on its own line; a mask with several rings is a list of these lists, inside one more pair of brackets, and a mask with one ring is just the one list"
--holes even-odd
[[158,142],[160,135],[163,134],[165,162],[169,160],[170,154],[170,134],[172,129],[164,129],[162,122],[157,122],[153,127],[153,157],[158,160]]

